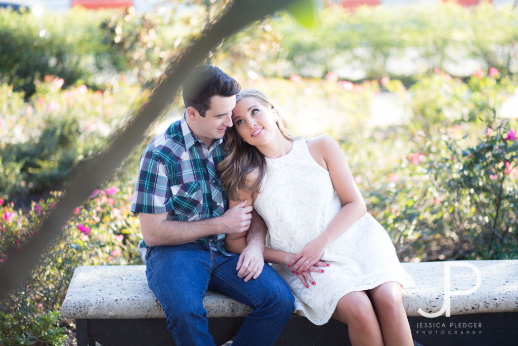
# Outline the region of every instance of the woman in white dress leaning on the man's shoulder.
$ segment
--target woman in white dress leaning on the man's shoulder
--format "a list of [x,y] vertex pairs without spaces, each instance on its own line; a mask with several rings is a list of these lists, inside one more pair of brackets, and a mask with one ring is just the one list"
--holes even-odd
[[[219,167],[228,206],[248,200],[265,220],[264,259],[290,285],[297,313],[347,323],[353,345],[413,345],[401,286],[414,283],[366,213],[339,145],[327,135],[291,137],[261,91],[242,90],[236,101],[231,154]],[[227,249],[240,252],[244,236],[227,234]]]

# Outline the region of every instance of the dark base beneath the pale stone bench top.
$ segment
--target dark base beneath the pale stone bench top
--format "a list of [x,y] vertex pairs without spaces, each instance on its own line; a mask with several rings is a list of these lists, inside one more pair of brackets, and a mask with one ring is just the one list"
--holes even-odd
[[[244,317],[212,317],[209,333],[217,345],[231,340]],[[514,344],[518,340],[518,311],[408,317],[412,337],[424,346],[476,346]],[[76,320],[78,346],[175,345],[165,319]],[[316,326],[306,317],[293,316],[277,339],[279,346],[351,345],[347,325],[330,320]]]

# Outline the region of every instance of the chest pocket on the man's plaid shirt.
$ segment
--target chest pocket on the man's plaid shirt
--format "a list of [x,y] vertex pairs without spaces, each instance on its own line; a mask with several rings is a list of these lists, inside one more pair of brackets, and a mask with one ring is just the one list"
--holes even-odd
[[203,211],[203,193],[199,182],[171,186],[173,211],[190,219]]

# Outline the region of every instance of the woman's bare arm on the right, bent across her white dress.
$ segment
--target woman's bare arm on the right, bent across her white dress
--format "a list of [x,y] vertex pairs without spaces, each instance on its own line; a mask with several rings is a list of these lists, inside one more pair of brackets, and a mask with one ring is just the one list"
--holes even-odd
[[342,208],[331,220],[326,230],[295,256],[290,264],[296,270],[305,270],[322,258],[327,245],[336,240],[367,212],[346,157],[338,143],[328,135],[308,140],[313,159],[329,171],[333,186],[340,198]]

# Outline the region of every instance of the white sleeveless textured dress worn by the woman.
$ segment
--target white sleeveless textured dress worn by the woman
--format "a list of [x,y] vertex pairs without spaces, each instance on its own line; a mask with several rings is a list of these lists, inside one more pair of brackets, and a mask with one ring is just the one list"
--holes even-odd
[[[268,246],[297,254],[326,229],[342,205],[329,172],[313,159],[304,138],[295,139],[288,154],[266,161],[254,209],[268,227]],[[273,265],[292,289],[296,312],[316,325],[325,324],[348,293],[389,281],[415,286],[389,234],[368,213],[327,246],[322,260],[329,267],[325,273],[311,273],[316,285],[309,288],[287,266]]]

